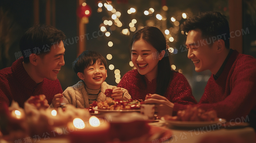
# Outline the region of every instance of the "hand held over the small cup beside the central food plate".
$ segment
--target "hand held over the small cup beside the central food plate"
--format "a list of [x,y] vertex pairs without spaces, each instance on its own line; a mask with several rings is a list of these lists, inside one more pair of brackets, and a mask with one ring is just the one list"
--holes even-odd
[[155,104],[155,112],[158,116],[172,115],[174,104],[163,96],[149,94],[145,99],[145,104]]

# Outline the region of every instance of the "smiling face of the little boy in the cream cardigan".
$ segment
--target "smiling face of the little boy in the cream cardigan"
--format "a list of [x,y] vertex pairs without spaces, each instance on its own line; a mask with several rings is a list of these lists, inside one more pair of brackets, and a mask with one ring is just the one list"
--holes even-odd
[[97,61],[95,64],[85,68],[84,73],[79,72],[77,75],[84,81],[88,89],[98,90],[102,82],[106,80],[107,70],[103,63]]

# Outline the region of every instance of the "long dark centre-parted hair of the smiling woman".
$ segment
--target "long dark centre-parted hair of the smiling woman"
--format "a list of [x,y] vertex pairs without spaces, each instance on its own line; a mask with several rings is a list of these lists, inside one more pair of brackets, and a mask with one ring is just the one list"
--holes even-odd
[[[147,43],[152,45],[159,53],[162,50],[165,50],[166,52],[169,52],[168,49],[166,49],[166,40],[163,35],[163,33],[158,29],[157,27],[144,27],[142,29],[139,29],[133,36],[131,43],[130,43],[130,54],[132,50],[132,45],[135,41],[138,41],[140,39],[145,40]],[[131,56],[130,56],[131,57]],[[158,62],[158,73],[157,73],[157,90],[156,94],[159,94],[161,96],[164,95],[167,86],[172,79],[173,70],[171,68],[169,56],[164,56],[162,60]],[[144,78],[142,78],[145,86],[146,81]]]

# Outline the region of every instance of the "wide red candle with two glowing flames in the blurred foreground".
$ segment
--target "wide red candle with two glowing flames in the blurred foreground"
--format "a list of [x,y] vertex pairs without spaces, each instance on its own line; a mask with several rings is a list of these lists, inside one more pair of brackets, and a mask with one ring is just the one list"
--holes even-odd
[[75,128],[75,130],[70,133],[72,143],[80,143],[81,141],[88,143],[104,143],[109,141],[109,123],[104,121],[100,122],[96,116],[91,116],[89,122],[75,118],[72,126]]

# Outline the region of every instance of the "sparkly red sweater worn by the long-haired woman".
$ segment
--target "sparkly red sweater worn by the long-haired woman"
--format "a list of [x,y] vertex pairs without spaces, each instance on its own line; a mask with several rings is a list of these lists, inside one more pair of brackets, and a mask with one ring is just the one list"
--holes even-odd
[[[144,77],[145,78],[145,77]],[[132,99],[145,100],[146,94],[156,93],[157,80],[154,79],[152,82],[145,78],[147,87],[144,86],[143,80],[138,70],[128,71],[121,79],[118,87],[122,87],[128,90]],[[192,95],[191,88],[186,78],[179,72],[173,72],[173,79],[169,82],[167,90],[164,93],[171,102],[177,102],[181,104],[196,104],[197,101]]]

